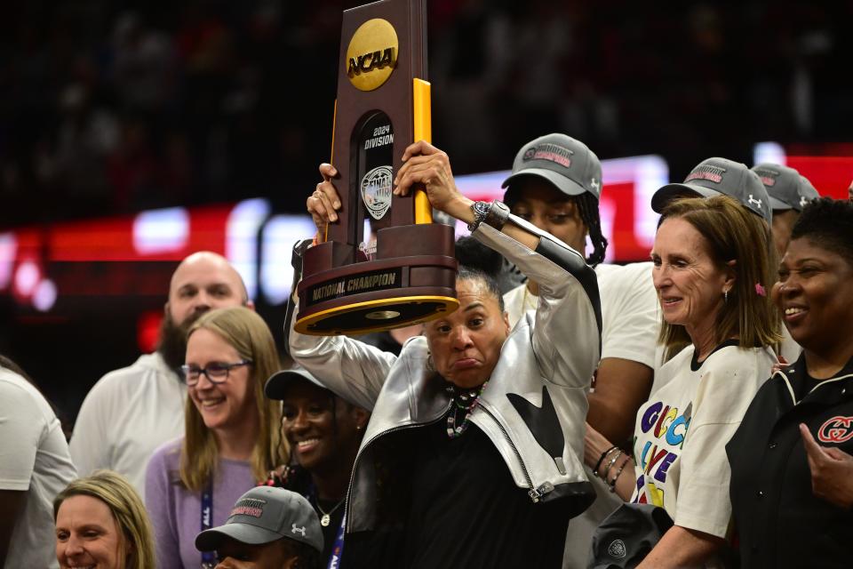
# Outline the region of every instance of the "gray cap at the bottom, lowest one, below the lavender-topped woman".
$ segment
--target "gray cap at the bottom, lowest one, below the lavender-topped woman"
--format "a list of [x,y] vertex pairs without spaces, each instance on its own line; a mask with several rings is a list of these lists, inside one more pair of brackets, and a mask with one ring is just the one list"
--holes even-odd
[[240,496],[225,525],[195,536],[195,549],[213,551],[226,538],[263,545],[287,538],[323,551],[323,531],[314,508],[298,493],[257,486]]

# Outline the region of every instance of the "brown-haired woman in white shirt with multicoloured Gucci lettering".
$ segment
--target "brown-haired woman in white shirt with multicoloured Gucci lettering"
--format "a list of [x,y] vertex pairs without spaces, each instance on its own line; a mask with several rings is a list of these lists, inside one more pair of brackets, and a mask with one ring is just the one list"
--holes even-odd
[[731,537],[722,448],[781,338],[756,286],[770,282],[771,246],[761,218],[729,196],[676,200],[663,212],[651,253],[660,340],[666,349],[689,345],[658,370],[661,387],[637,412],[633,452],[592,429],[587,436],[595,473],[623,500],[654,504],[674,523],[641,567],[713,565]]

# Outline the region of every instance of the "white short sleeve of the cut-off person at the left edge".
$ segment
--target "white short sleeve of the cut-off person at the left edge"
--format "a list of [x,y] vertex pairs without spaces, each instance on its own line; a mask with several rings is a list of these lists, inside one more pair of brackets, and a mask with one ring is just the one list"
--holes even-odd
[[44,413],[31,393],[0,381],[0,490],[29,489]]

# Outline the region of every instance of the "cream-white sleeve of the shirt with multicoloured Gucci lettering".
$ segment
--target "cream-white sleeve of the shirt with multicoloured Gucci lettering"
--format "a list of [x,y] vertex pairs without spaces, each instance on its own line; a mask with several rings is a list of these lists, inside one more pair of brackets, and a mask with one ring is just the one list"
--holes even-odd
[[[710,366],[702,374],[693,400],[674,523],[724,538],[731,519],[731,469],[725,447],[769,376],[771,361],[769,356],[755,357],[755,350],[736,348],[723,349],[715,356],[719,357],[713,362],[706,361]],[[767,366],[762,363],[765,359]]]

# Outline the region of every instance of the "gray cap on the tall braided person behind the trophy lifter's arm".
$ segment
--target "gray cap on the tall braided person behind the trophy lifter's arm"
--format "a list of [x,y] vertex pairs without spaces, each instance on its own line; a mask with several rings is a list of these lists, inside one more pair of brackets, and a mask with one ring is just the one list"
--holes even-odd
[[589,192],[602,195],[602,163],[586,144],[554,132],[530,140],[515,155],[513,173],[504,180],[506,188],[521,176],[538,176],[554,184],[562,193],[580,196]]

